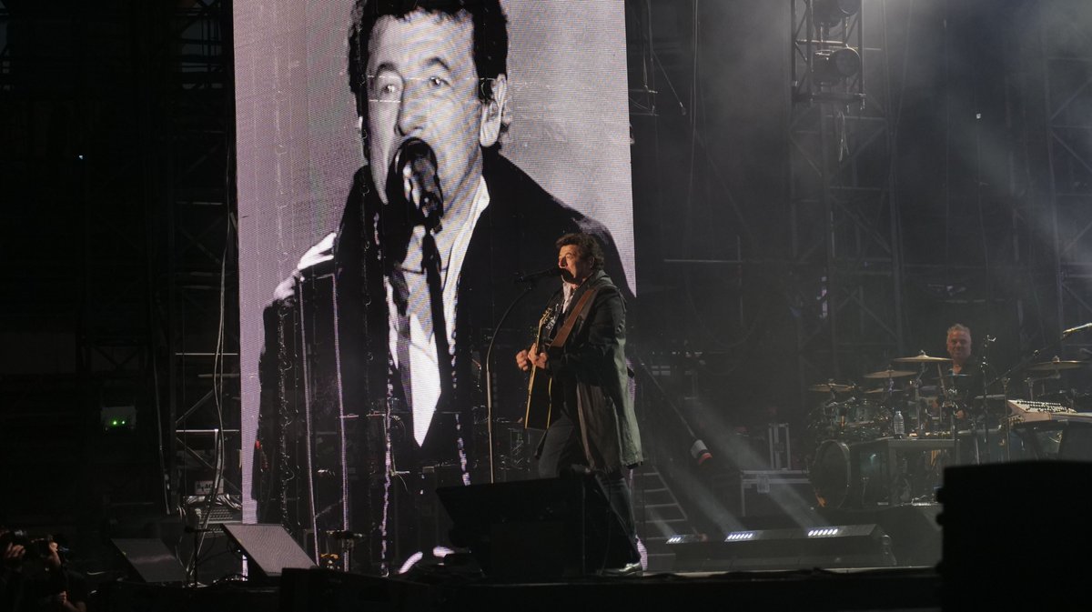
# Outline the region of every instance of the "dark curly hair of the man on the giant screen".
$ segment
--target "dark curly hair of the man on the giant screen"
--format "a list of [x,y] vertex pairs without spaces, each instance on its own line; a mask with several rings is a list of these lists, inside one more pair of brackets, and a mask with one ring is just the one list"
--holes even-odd
[[478,98],[492,99],[492,83],[508,70],[508,17],[500,0],[356,0],[348,28],[348,84],[364,116],[367,100],[368,37],[380,17],[404,19],[415,11],[452,19],[468,14],[474,24],[474,67],[480,86]]

